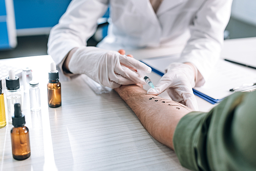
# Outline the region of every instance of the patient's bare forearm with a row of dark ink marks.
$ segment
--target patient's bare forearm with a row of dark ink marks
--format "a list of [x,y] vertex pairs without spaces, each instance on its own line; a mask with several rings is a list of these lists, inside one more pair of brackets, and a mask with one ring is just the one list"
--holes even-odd
[[190,108],[176,101],[148,95],[137,85],[121,86],[115,91],[134,111],[148,133],[174,149],[174,131],[180,119],[192,111]]

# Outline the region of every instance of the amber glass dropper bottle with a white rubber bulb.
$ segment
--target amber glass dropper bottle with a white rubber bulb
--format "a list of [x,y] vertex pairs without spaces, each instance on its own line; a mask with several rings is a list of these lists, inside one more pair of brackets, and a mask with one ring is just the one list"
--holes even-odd
[[58,70],[56,70],[54,62],[51,63],[51,72],[49,72],[47,91],[49,107],[57,108],[61,106],[61,84],[59,82],[59,73]]

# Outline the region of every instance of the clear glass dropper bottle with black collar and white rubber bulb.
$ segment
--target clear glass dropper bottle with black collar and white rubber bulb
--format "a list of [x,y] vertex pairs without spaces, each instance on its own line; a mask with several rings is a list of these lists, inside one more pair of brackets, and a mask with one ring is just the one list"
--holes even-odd
[[9,77],[6,78],[6,99],[8,122],[12,123],[14,104],[19,103],[22,109],[22,91],[20,91],[19,88],[19,77],[15,76],[15,72],[13,70],[9,71]]

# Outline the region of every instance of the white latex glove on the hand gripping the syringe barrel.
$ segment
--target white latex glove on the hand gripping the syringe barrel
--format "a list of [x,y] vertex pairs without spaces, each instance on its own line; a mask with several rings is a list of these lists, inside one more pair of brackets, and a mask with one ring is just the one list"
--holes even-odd
[[69,62],[69,70],[73,74],[86,74],[94,81],[112,89],[120,87],[121,84],[145,84],[137,72],[127,67],[151,72],[150,67],[134,58],[96,47],[78,48]]

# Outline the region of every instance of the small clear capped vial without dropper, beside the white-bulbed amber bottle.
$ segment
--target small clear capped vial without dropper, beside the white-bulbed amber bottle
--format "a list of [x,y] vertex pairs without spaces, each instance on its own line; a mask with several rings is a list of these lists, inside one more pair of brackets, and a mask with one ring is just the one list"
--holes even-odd
[[40,111],[41,102],[40,102],[40,89],[39,89],[38,81],[29,82],[29,96],[30,96],[30,110]]

